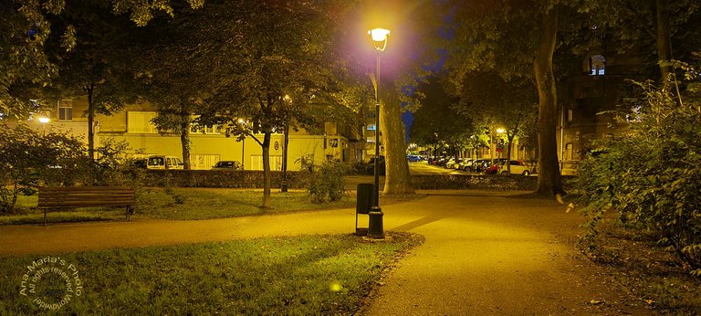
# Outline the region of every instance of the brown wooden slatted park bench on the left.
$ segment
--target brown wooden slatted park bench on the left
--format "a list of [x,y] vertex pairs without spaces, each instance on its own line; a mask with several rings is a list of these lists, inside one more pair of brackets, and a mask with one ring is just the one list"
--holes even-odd
[[127,220],[136,205],[134,189],[115,186],[40,187],[37,207],[44,208],[44,225],[47,225],[47,210],[76,207],[122,206],[126,208]]

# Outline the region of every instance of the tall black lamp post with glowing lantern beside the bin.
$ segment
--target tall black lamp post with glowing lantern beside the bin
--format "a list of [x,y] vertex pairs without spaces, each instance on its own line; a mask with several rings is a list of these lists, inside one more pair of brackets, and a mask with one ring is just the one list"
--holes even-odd
[[384,238],[384,228],[382,226],[382,208],[380,208],[380,58],[384,48],[387,47],[387,37],[390,31],[384,28],[373,28],[368,31],[372,38],[372,44],[377,50],[377,68],[375,72],[375,196],[370,213],[370,223],[368,224],[368,237]]

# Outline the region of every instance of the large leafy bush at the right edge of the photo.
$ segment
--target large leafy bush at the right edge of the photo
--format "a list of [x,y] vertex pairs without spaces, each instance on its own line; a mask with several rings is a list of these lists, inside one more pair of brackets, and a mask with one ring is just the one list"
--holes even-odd
[[[689,75],[694,79],[693,73]],[[636,83],[644,92],[628,132],[598,143],[581,163],[577,202],[590,217],[589,250],[603,212],[628,228],[650,229],[701,275],[701,102]],[[630,119],[630,117],[629,117]]]

